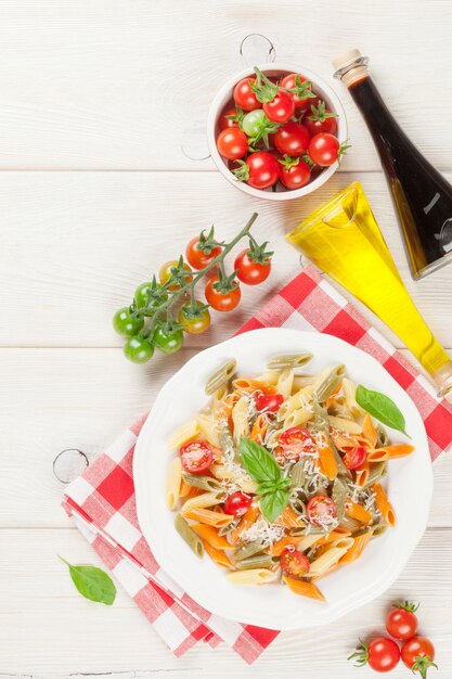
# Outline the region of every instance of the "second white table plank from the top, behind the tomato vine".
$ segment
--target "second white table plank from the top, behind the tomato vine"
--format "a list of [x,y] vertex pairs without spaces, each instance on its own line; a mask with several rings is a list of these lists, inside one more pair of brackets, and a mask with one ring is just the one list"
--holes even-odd
[[[183,253],[202,229],[215,223],[219,235],[232,238],[256,210],[254,233],[275,251],[272,276],[256,289],[246,287],[235,312],[216,315],[214,328],[189,344],[204,347],[225,340],[299,271],[299,254],[285,233],[358,179],[421,312],[444,346],[452,346],[447,311],[452,308],[452,267],[411,280],[380,172],[336,175],[313,195],[285,205],[251,198],[218,172],[4,172],[0,346],[120,346],[112,316],[130,304],[137,285]],[[383,323],[375,324],[400,346]]]

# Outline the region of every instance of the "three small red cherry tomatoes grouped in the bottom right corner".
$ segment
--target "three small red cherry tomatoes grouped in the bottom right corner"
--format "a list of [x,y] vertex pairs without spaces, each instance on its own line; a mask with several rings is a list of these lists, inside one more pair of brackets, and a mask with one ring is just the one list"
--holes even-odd
[[[390,671],[400,662],[418,672],[422,679],[426,679],[429,667],[438,669],[434,663],[435,646],[427,637],[417,636],[418,620],[415,615],[418,604],[397,603],[386,616],[386,629],[392,637],[377,637],[369,644],[360,640],[357,651],[349,659],[357,661],[357,666],[367,665],[375,671]],[[401,648],[395,641],[402,642]]]

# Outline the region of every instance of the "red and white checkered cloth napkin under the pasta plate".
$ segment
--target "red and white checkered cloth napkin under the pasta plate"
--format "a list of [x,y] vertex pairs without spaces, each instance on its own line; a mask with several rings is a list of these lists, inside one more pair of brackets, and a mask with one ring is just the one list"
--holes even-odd
[[[452,444],[452,409],[347,300],[309,267],[240,332],[283,326],[335,335],[374,356],[416,403],[431,459]],[[197,641],[228,643],[253,663],[279,635],[212,615],[196,604],[158,566],[140,530],[132,478],[137,437],[145,417],[100,454],[66,489],[63,507],[126,591],[177,656]]]

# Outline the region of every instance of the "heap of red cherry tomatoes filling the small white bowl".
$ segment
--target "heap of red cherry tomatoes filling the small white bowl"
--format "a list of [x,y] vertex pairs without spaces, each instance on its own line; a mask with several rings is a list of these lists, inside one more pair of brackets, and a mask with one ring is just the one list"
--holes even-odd
[[255,189],[300,189],[346,151],[336,114],[301,74],[244,78],[219,117],[217,149],[238,181]]

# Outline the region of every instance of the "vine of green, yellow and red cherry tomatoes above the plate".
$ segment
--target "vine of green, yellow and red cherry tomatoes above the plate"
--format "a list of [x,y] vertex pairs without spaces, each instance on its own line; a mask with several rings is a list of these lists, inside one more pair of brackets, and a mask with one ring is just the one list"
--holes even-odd
[[[186,261],[182,257],[167,261],[158,281],[154,277],[139,285],[132,304],[118,309],[113,318],[114,329],[126,337],[126,358],[146,363],[155,349],[175,354],[183,345],[184,333],[198,335],[209,328],[209,308],[232,311],[241,300],[241,283],[262,283],[270,274],[273,253],[266,251],[267,243],[258,245],[250,234],[248,238],[249,246],[236,256],[231,276],[223,268],[225,244],[215,241],[211,230],[190,241]],[[194,296],[197,282],[204,283],[207,304]]]

